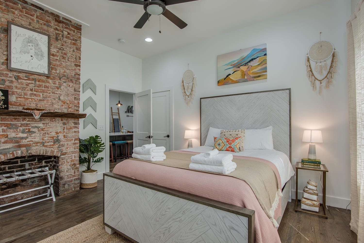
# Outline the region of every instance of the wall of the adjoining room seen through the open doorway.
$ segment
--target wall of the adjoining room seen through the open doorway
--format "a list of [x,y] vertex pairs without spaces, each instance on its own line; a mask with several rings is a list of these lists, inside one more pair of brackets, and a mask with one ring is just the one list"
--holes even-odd
[[[125,113],[125,111],[128,109],[128,106],[130,106],[130,107],[133,106],[134,95],[130,94],[130,93],[110,90],[109,106],[112,107],[113,112],[118,112],[118,106],[115,104],[119,102],[119,93],[120,93],[120,103],[123,104],[122,106],[119,107],[121,125],[124,128],[126,128],[128,131],[134,131],[134,129],[133,129],[133,126],[134,126],[133,118],[134,117],[127,117],[127,115],[133,115],[133,114]],[[133,108],[133,110],[134,110],[134,108]],[[117,118],[117,116],[115,115],[114,118]],[[110,130],[110,132],[113,132],[111,114],[109,117],[109,122],[110,122],[109,130]]]

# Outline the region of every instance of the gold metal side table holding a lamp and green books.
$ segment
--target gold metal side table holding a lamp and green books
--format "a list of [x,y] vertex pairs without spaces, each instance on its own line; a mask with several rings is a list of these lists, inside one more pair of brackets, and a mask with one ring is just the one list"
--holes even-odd
[[[320,211],[316,213],[316,212],[311,212],[311,211],[304,210],[304,209],[298,209],[298,201],[301,201],[301,200],[298,200],[298,169],[304,169],[304,170],[308,170],[308,171],[318,171],[318,172],[323,173],[323,193],[322,193],[323,201],[322,201],[322,203],[320,203],[320,207],[321,206],[323,207],[324,214],[319,213]],[[324,164],[321,164],[320,166],[315,166],[313,168],[313,166],[309,167],[309,166],[302,165],[301,162],[296,163],[296,207],[294,208],[294,211],[307,213],[307,214],[311,214],[311,215],[316,215],[316,216],[324,217],[327,219],[327,214],[326,214],[326,172],[329,172],[329,171],[328,171],[326,165],[324,165]]]

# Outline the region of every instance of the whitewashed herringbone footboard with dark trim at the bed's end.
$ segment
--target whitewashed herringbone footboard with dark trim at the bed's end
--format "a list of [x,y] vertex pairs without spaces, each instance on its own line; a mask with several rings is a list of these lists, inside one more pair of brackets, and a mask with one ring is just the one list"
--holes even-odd
[[255,211],[104,174],[104,225],[136,243],[253,243]]

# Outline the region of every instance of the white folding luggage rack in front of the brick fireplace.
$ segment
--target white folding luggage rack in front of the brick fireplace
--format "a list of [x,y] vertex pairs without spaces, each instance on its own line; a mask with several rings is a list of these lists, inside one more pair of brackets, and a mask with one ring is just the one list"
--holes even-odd
[[0,196],[0,199],[4,198],[4,197],[19,195],[19,194],[25,193],[25,192],[31,192],[31,191],[43,189],[43,188],[48,188],[47,193],[37,195],[37,196],[33,196],[33,197],[29,197],[29,198],[22,199],[22,200],[17,200],[17,201],[11,202],[11,203],[6,203],[4,205],[0,205],[0,209],[1,209],[1,207],[5,207],[7,205],[11,205],[11,204],[15,204],[15,203],[20,203],[22,201],[27,201],[29,199],[33,199],[33,198],[36,198],[36,197],[47,196],[46,198],[36,200],[36,201],[32,201],[30,203],[25,203],[25,204],[22,204],[22,205],[19,205],[19,206],[16,206],[16,207],[4,209],[4,210],[0,211],[0,213],[6,212],[6,211],[9,211],[9,210],[12,210],[12,209],[24,207],[24,206],[27,206],[29,204],[39,203],[40,201],[44,201],[44,200],[48,200],[48,199],[53,199],[53,201],[55,201],[56,198],[54,196],[54,191],[53,191],[53,182],[54,182],[55,174],[56,174],[55,170],[50,171],[50,170],[48,170],[48,167],[46,167],[46,168],[32,169],[32,170],[28,170],[28,171],[20,171],[20,172],[10,173],[10,174],[6,174],[6,175],[0,175],[0,183],[7,183],[7,182],[10,182],[10,181],[16,181],[16,180],[23,180],[23,179],[33,178],[33,177],[37,177],[37,176],[47,175],[47,177],[48,177],[48,185],[45,185],[43,187],[37,187],[37,188],[21,191],[21,192],[12,193],[12,194],[9,194],[9,195]]

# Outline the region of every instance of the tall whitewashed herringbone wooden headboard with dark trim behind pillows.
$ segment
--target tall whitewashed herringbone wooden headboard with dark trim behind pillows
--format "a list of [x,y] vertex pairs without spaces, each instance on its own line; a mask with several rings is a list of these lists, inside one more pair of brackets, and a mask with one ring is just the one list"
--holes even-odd
[[291,160],[291,89],[200,98],[201,145],[209,128],[273,127],[273,146]]

